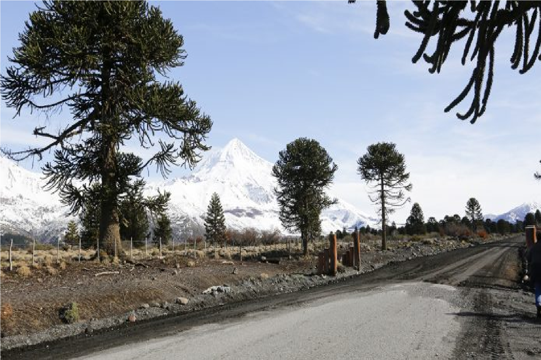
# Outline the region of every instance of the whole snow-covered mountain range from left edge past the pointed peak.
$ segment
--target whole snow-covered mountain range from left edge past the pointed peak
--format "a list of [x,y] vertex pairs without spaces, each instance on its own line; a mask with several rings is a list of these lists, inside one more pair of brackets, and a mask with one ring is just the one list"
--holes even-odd
[[[5,158],[0,161],[3,233],[17,232],[49,240],[62,233],[69,220],[76,219],[67,216],[68,208],[56,194],[43,190],[41,174]],[[180,236],[201,231],[202,215],[214,192],[220,195],[227,226],[284,232],[273,192],[276,181],[271,175],[272,166],[240,140],[233,139],[222,150],[206,154],[192,175],[149,182],[145,192],[171,193],[168,215],[174,233]],[[322,212],[321,220],[324,233],[367,224],[377,227],[377,219],[341,199]]]

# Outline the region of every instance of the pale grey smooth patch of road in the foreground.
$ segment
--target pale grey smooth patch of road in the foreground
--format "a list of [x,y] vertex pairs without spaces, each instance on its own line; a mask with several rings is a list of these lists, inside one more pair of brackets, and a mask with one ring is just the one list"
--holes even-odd
[[195,327],[84,359],[433,359],[448,358],[460,309],[453,287],[386,286]]

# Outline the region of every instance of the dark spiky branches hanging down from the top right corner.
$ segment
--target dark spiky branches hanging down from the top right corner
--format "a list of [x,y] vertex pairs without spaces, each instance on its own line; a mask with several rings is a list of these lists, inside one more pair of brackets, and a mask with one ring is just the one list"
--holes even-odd
[[[355,1],[348,1],[354,3]],[[494,44],[504,29],[513,29],[514,49],[511,68],[519,73],[529,71],[536,60],[541,60],[541,2],[539,1],[412,1],[415,10],[404,11],[406,26],[423,35],[417,53],[430,64],[431,73],[441,71],[451,47],[463,39],[462,65],[475,62],[470,80],[464,90],[445,108],[450,111],[463,101],[473,89],[470,108],[459,119],[470,119],[473,124],[483,115],[494,77]],[[386,1],[377,2],[374,38],[385,35],[390,28]],[[532,36],[533,35],[533,36]],[[433,52],[427,51],[432,37]],[[522,63],[522,66],[521,66]]]

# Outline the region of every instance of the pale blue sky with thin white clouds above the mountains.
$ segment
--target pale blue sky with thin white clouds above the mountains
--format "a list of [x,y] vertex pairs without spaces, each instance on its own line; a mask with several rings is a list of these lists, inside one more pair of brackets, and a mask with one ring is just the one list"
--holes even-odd
[[[339,166],[335,193],[367,213],[375,209],[356,161],[378,141],[395,142],[404,153],[410,196],[426,218],[464,215],[470,197],[486,214],[541,200],[541,183],[533,179],[541,168],[541,65],[524,75],[511,70],[511,32],[498,40],[487,112],[471,125],[443,109],[473,64],[460,64],[461,46],[438,75],[422,60],[412,64],[421,37],[404,26],[410,2],[390,4],[391,30],[378,40],[375,2],[151,4],[184,36],[186,64],[169,76],[212,117],[213,148],[236,137],[274,162],[288,142],[314,138]],[[2,74],[33,9],[33,2],[0,3]],[[467,107],[465,101],[456,110]],[[12,119],[4,101],[0,114],[0,141],[14,149],[37,141],[31,135],[36,124],[55,128],[69,119],[68,113],[46,118],[28,112]],[[171,176],[188,172],[179,168]],[[404,222],[410,208],[394,220]]]

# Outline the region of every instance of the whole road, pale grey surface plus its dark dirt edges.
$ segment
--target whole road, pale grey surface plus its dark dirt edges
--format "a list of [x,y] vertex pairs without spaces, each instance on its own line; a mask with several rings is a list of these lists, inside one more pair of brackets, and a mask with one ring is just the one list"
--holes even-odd
[[522,236],[259,301],[42,344],[19,359],[536,359]]

